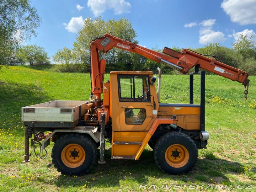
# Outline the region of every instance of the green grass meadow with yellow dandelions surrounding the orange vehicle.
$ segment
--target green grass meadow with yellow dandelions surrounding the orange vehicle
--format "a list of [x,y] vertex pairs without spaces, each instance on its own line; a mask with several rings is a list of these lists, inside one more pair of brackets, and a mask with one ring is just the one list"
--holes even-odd
[[[109,79],[106,74],[105,80]],[[161,187],[162,184],[194,183],[254,184],[253,191],[256,191],[256,77],[249,79],[251,87],[248,100],[244,101],[244,87],[238,82],[216,75],[206,76],[206,130],[210,139],[207,149],[199,150],[198,163],[188,174],[175,176],[161,172],[149,147],[138,161],[111,160],[111,148],[107,145],[106,164],[95,163],[84,176],[69,176],[61,175],[51,164],[53,143],[47,147],[46,159],[39,160],[33,154],[31,162],[22,164],[24,127],[20,110],[51,100],[88,100],[90,75],[28,66],[2,68],[0,191],[153,191],[153,188],[139,190],[138,187],[140,184]],[[199,82],[199,76],[196,80]],[[188,103],[188,88],[188,75],[162,75],[161,102]],[[199,102],[199,83],[196,88],[195,100]]]

